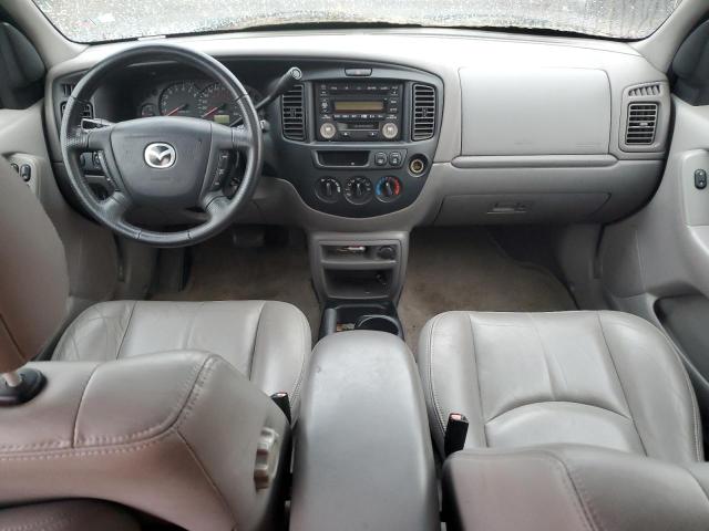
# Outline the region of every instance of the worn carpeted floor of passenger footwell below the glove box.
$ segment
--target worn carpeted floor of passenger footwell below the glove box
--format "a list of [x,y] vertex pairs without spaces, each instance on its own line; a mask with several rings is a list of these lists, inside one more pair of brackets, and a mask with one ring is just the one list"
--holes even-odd
[[399,317],[417,347],[425,322],[449,310],[543,312],[575,310],[568,291],[546,269],[508,258],[482,228],[418,229]]

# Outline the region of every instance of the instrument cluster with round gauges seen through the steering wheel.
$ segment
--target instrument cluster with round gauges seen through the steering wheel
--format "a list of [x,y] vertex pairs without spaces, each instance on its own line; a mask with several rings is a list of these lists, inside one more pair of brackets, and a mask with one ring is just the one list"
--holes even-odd
[[[261,95],[245,86],[256,104]],[[137,108],[138,117],[187,116],[236,125],[240,113],[236,100],[222,83],[199,80],[182,80],[153,87]]]

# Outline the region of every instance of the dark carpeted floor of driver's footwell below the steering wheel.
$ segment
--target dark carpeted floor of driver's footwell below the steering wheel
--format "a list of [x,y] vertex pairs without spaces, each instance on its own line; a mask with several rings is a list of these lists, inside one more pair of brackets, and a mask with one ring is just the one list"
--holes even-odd
[[156,293],[161,301],[289,302],[308,317],[314,340],[320,306],[310,282],[308,251],[302,246],[236,248],[229,231],[191,250],[189,280],[183,291]]

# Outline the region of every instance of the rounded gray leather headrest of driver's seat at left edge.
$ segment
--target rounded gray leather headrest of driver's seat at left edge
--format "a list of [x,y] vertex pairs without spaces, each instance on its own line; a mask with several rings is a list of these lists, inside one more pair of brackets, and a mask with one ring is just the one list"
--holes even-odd
[[0,373],[42,352],[63,325],[64,248],[37,197],[0,162]]

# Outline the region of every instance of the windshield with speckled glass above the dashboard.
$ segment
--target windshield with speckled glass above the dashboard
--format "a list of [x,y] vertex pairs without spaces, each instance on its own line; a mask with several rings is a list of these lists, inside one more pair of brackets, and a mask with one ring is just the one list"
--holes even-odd
[[100,42],[263,25],[524,28],[643,39],[681,0],[34,0],[66,38]]

